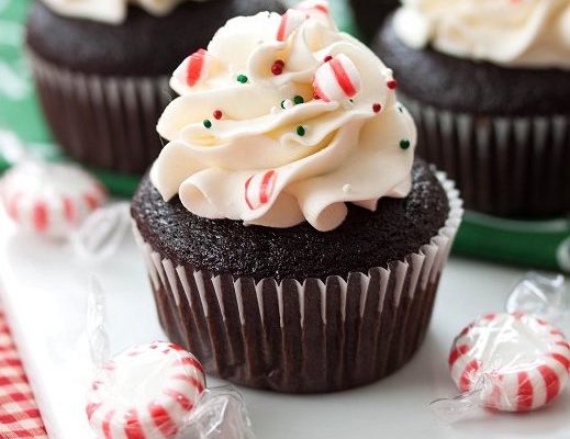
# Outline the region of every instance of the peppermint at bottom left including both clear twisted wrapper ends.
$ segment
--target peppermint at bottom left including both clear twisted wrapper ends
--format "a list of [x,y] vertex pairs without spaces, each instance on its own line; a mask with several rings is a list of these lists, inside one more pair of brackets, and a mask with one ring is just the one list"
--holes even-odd
[[134,346],[108,360],[104,293],[90,281],[87,336],[94,378],[86,415],[103,439],[255,439],[239,393],[205,389],[200,362],[166,341]]

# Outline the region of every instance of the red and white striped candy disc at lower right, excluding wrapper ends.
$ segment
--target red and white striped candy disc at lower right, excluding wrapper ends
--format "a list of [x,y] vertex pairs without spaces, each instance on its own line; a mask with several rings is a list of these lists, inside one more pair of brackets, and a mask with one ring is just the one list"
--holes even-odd
[[449,354],[451,378],[469,392],[485,374],[483,405],[527,412],[557,397],[570,375],[570,345],[548,323],[525,314],[488,314],[466,327]]

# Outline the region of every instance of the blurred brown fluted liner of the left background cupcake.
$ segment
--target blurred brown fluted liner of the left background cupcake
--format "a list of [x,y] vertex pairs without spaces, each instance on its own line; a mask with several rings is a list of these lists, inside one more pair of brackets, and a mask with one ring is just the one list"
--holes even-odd
[[87,165],[144,173],[163,143],[156,122],[171,100],[168,77],[87,75],[29,52],[52,133],[71,158]]

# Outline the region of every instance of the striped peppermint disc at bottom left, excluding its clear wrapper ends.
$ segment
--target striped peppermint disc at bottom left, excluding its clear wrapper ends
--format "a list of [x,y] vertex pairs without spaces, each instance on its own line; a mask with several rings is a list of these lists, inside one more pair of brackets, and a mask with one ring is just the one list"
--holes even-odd
[[170,342],[141,345],[97,374],[87,417],[99,438],[174,438],[204,387],[202,365],[191,353]]

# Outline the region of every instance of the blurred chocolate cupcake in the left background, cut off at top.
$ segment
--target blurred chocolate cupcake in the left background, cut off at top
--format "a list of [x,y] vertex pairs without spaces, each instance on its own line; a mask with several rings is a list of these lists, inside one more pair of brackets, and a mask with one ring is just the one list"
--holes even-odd
[[43,0],[27,48],[53,135],[87,165],[143,175],[163,142],[156,121],[168,77],[236,14],[282,10],[278,0]]

